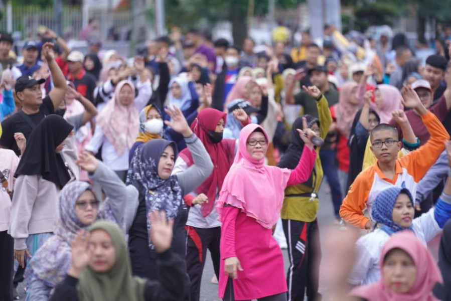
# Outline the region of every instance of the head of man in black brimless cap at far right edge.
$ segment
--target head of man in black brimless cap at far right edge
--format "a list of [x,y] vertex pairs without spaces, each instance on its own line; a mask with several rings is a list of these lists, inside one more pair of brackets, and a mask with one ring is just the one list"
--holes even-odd
[[423,76],[432,88],[434,100],[439,99],[446,90],[446,85],[442,84],[444,79],[446,65],[448,62],[440,55],[430,55],[426,59],[426,67],[424,67]]

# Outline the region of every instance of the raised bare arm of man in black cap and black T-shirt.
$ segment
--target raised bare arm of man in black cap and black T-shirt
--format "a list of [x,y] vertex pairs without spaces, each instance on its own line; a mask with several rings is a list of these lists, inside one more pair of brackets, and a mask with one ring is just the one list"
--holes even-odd
[[42,46],[42,54],[44,55],[47,64],[49,65],[50,74],[53,80],[53,89],[49,96],[53,103],[53,108],[56,111],[66,95],[66,79],[58,64],[55,62],[55,55],[53,52],[53,43],[45,43]]

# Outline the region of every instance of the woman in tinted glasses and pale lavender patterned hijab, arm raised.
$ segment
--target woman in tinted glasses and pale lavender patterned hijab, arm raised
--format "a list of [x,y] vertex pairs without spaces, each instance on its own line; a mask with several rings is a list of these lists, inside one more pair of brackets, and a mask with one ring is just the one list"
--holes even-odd
[[63,188],[55,235],[33,255],[25,272],[28,301],[48,300],[51,290],[64,280],[71,263],[71,243],[78,231],[98,219],[106,219],[118,223],[125,236],[131,225],[125,205],[137,203],[137,190],[125,186],[116,173],[87,152],[80,155],[77,163],[101,186],[107,198],[100,202],[86,182],[74,181]]

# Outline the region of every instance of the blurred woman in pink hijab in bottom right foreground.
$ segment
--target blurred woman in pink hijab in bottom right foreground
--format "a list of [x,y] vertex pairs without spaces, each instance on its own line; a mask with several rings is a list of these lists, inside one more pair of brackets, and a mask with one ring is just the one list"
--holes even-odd
[[355,288],[351,295],[367,301],[432,301],[443,279],[437,263],[412,231],[393,234],[382,248],[379,282]]

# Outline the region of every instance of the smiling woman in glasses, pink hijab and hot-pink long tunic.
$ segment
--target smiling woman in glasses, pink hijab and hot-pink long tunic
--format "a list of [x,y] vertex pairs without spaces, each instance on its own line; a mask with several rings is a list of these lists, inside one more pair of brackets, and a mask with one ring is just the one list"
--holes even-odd
[[316,152],[304,118],[305,146],[294,170],[265,166],[268,135],[257,124],[240,132],[235,160],[227,174],[216,209],[221,226],[219,297],[224,300],[286,300],[280,247],[272,227],[282,208],[284,189],[307,181]]

